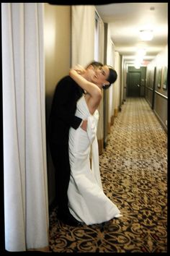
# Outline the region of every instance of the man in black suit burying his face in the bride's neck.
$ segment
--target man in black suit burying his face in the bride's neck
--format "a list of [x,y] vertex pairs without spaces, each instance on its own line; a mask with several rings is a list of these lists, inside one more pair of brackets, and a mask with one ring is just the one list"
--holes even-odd
[[[91,69],[103,66],[97,61],[86,67],[84,78],[91,81]],[[53,103],[48,124],[48,139],[50,153],[55,167],[55,200],[58,205],[58,218],[71,226],[79,226],[68,209],[68,184],[71,168],[68,156],[68,135],[70,127],[77,129],[81,126],[86,130],[86,120],[75,116],[76,102],[83,90],[70,76],[63,77],[55,88]]]

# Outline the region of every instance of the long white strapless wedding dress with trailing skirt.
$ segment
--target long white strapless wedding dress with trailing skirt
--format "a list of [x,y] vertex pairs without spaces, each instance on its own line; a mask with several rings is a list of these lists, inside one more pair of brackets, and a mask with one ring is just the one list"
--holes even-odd
[[[68,206],[78,221],[91,225],[120,217],[120,210],[109,200],[102,189],[99,173],[97,122],[99,113],[89,113],[84,95],[77,103],[76,116],[87,119],[87,131],[81,127],[70,129],[69,158],[71,178],[68,186]],[[90,153],[92,159],[90,163]]]

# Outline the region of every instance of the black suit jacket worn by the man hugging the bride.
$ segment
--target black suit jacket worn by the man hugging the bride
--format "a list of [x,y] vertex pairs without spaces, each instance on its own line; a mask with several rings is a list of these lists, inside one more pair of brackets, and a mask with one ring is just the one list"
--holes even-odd
[[69,128],[77,129],[82,121],[75,116],[76,102],[82,94],[83,90],[71,77],[63,77],[58,82],[53,95],[48,124],[50,142],[68,145]]

